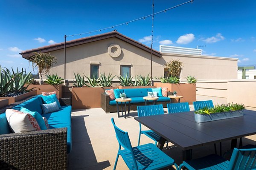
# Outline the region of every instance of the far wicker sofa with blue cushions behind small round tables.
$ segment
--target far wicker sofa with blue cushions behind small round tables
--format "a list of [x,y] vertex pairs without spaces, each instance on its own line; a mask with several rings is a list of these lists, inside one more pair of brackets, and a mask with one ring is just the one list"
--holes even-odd
[[[145,105],[145,100],[143,97],[148,96],[148,92],[152,92],[152,88],[129,88],[129,89],[119,89],[121,93],[125,93],[126,97],[131,98],[131,110],[137,110],[137,106]],[[168,92],[167,95],[171,95]],[[153,100],[149,101],[153,103]],[[159,96],[157,99],[157,104],[163,104],[163,107],[167,107],[167,103],[170,103],[169,97]],[[121,104],[121,102],[119,102]],[[101,106],[106,112],[116,112],[116,101],[110,100],[109,95],[106,93],[101,94]],[[119,109],[121,105],[119,105]]]

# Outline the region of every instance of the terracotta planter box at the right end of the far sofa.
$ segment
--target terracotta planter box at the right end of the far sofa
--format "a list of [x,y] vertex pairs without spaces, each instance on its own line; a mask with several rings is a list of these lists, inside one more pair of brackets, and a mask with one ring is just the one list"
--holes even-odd
[[[161,83],[155,82],[154,86],[159,87],[167,87],[170,92],[177,92],[178,96],[183,96],[180,99],[180,102],[189,102],[189,105],[192,105],[193,102],[196,101],[196,84],[192,83],[179,83],[179,84],[171,84],[171,83]],[[177,103],[178,99],[173,99],[173,102]]]

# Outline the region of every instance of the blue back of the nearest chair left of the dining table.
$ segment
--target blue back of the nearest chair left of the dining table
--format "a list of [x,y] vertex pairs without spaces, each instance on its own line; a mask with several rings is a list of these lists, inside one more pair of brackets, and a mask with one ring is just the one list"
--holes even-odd
[[134,168],[137,170],[138,165],[137,165],[137,162],[135,160],[134,153],[132,151],[131,141],[130,141],[128,132],[125,132],[125,131],[119,129],[119,127],[116,126],[113,117],[111,118],[111,122],[112,122],[112,124],[114,126],[114,129],[115,129],[115,132],[116,132],[116,139],[119,143],[119,150],[120,150],[120,146],[122,146],[126,151],[131,153],[131,156],[132,156],[131,159],[134,161],[134,165],[135,165]]

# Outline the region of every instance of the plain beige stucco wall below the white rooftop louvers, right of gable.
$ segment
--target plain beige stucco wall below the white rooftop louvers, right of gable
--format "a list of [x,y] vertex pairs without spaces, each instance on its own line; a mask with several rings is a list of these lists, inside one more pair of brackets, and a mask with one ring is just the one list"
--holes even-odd
[[238,59],[166,53],[162,53],[162,57],[166,62],[172,59],[179,59],[183,62],[181,79],[185,79],[188,75],[195,76],[196,79],[237,78]]

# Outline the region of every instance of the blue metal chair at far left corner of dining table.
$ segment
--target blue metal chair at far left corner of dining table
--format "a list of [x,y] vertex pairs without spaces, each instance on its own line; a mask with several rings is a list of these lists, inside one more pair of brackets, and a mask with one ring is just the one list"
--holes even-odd
[[[152,115],[159,115],[164,114],[163,112],[163,105],[148,105],[148,106],[137,106],[138,110],[138,116],[152,116]],[[141,130],[141,124],[140,125],[140,134],[139,134],[139,140],[138,140],[138,146],[140,146],[140,135],[144,134],[145,136],[148,136],[150,139],[155,141],[155,145],[157,145],[157,142],[160,141],[160,136],[157,135],[153,130]]]

